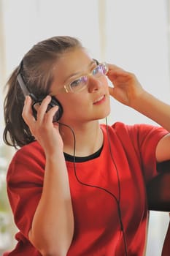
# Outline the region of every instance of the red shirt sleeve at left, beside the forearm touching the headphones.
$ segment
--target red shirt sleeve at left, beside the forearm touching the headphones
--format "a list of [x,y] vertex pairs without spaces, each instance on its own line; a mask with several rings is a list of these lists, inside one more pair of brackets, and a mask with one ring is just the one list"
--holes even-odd
[[9,203],[15,224],[26,238],[42,195],[44,172],[45,155],[38,143],[18,150],[7,171]]

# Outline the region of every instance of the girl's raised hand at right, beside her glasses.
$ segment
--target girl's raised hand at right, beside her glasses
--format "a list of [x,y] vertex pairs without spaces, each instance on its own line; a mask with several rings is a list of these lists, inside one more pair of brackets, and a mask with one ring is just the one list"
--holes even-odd
[[109,87],[109,94],[124,105],[133,107],[134,100],[139,98],[144,91],[136,76],[120,67],[109,64],[107,77],[114,86],[113,88]]

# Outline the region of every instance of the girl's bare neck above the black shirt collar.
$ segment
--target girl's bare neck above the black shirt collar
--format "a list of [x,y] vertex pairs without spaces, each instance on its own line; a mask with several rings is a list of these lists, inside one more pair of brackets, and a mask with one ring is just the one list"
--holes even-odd
[[[98,121],[90,121],[86,124],[70,126],[75,135],[75,155],[87,157],[95,153],[103,144],[103,132]],[[61,137],[63,139],[63,151],[74,154],[74,135],[69,127],[60,125]]]

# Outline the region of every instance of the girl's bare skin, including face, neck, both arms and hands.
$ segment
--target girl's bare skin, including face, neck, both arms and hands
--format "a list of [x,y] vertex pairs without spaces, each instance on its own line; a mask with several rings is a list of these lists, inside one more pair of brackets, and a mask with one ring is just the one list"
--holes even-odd
[[[76,156],[88,156],[96,152],[103,143],[98,119],[110,112],[109,97],[114,97],[145,116],[156,121],[170,132],[170,106],[147,93],[136,76],[120,67],[109,64],[107,78],[114,87],[109,87],[105,76],[96,79],[89,76],[83,91],[65,93],[66,83],[87,75],[95,64],[83,49],[64,53],[55,65],[51,95],[55,95],[63,106],[61,123],[67,124],[76,136]],[[96,100],[101,99],[96,104]],[[36,208],[29,238],[42,255],[66,255],[72,243],[74,218],[69,179],[63,151],[73,154],[73,136],[70,129],[53,123],[58,107],[46,113],[50,96],[47,96],[37,113],[32,116],[31,98],[26,97],[23,118],[32,134],[45,151],[45,179],[42,197]],[[156,148],[158,162],[170,159],[170,137],[162,138]]]

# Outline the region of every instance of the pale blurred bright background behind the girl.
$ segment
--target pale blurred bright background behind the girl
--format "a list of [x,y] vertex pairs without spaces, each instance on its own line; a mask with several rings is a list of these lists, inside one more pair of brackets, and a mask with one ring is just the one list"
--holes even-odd
[[[4,85],[23,55],[39,40],[77,37],[93,58],[134,72],[144,89],[170,102],[169,0],[0,0],[0,255],[15,246],[17,229],[7,200],[5,178],[15,153],[4,145]],[[151,120],[115,99],[109,124]],[[167,213],[150,212],[147,256],[160,256]]]

